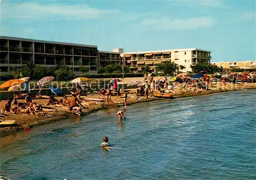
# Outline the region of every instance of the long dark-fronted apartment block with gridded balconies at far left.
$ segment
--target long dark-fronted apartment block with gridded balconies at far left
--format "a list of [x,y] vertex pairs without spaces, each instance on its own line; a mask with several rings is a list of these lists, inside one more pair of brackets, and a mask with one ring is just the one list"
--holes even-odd
[[10,73],[30,61],[44,67],[57,64],[69,66],[78,74],[79,66],[89,68],[88,73],[97,73],[98,49],[95,45],[42,41],[0,36],[1,73]]

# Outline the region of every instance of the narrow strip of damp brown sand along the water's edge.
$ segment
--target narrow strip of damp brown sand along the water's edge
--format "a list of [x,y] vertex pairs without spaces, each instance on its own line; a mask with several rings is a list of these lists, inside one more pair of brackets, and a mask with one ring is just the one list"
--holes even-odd
[[[242,90],[251,90],[251,89],[256,89],[256,85],[253,84],[253,86],[242,87],[239,89],[237,88],[237,89],[209,90],[209,91],[203,91],[203,92],[197,93],[197,94],[195,94],[193,92],[178,92],[178,93],[174,93],[174,98],[203,96],[203,95],[209,95],[209,94],[215,94],[215,93],[242,91]],[[128,99],[127,106],[132,106],[135,104],[139,104],[141,102],[150,102],[150,101],[155,101],[155,100],[166,100],[166,99],[165,98],[157,98],[157,97],[148,97],[148,99],[144,99],[144,97],[143,97],[143,99],[141,99],[141,100]],[[170,100],[172,100],[172,99],[170,99]],[[120,108],[120,107],[123,107],[122,103],[113,103],[110,105],[105,105],[105,104],[95,105],[91,109],[84,110],[83,113],[81,114],[81,117],[87,116],[89,114],[92,114],[92,113],[95,113],[95,112],[98,112],[101,110]],[[15,135],[22,131],[25,131],[28,126],[29,126],[29,128],[33,128],[33,127],[37,127],[37,126],[41,126],[41,125],[51,124],[51,123],[54,123],[57,121],[59,122],[62,120],[67,120],[72,117],[72,114],[70,111],[58,111],[56,114],[57,115],[54,117],[32,116],[33,117],[33,118],[31,118],[32,120],[29,121],[28,123],[24,123],[24,124],[21,123],[18,126],[0,127],[0,139],[11,136],[11,135]],[[28,115],[26,115],[26,116],[28,117]]]

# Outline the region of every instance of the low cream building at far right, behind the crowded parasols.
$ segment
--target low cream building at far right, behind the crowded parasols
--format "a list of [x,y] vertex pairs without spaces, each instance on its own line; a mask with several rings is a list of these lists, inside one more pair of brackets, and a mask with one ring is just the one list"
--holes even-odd
[[226,69],[241,68],[245,70],[256,70],[256,61],[230,61],[230,62],[214,62],[211,63],[218,67],[223,67]]

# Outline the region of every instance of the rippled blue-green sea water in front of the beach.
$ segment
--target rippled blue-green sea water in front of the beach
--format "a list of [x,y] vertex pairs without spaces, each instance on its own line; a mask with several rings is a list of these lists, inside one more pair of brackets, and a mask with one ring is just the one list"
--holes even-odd
[[[0,146],[18,179],[256,179],[255,90],[101,111]],[[48,126],[49,127],[49,126]],[[54,130],[55,129],[55,130]],[[24,135],[25,136],[25,135]],[[99,147],[108,136],[112,147]],[[4,141],[4,140],[3,140]],[[1,142],[0,142],[1,143]]]

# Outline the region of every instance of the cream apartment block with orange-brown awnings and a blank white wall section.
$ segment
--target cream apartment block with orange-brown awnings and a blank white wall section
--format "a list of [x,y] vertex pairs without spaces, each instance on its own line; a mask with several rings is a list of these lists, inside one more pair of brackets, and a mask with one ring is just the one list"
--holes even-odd
[[183,65],[183,72],[191,71],[190,66],[200,63],[210,63],[210,51],[189,48],[189,49],[168,49],[154,50],[146,52],[131,52],[125,54],[125,64],[130,65],[132,71],[141,71],[145,65],[150,66],[150,70],[156,72],[160,63],[171,61]]

